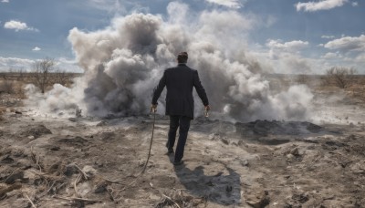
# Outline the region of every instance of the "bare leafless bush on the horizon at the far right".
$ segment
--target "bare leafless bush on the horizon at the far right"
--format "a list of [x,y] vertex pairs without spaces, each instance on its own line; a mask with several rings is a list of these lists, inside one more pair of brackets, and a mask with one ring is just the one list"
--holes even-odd
[[355,74],[355,68],[332,67],[327,70],[325,82],[339,88],[349,88]]

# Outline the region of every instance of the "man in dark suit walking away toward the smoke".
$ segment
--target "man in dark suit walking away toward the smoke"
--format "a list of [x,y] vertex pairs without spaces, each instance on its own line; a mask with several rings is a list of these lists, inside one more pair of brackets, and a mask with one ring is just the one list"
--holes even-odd
[[193,120],[193,87],[203,101],[205,110],[210,110],[205,89],[200,81],[198,71],[186,66],[188,54],[182,52],[177,56],[178,66],[167,68],[159,85],[154,88],[151,110],[157,108],[157,99],[160,98],[163,88],[166,86],[166,115],[170,116],[169,138],[166,144],[169,153],[173,152],[176,138],[176,130],[179,130],[179,140],[176,146],[174,165],[183,163],[183,150],[190,128],[190,120]]

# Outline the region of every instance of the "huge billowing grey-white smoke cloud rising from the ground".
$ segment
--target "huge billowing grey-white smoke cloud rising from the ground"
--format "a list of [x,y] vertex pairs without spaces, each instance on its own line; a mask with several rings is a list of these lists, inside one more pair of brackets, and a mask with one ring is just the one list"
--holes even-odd
[[[273,94],[261,77],[260,64],[245,51],[255,18],[235,11],[190,14],[188,5],[175,2],[167,9],[168,17],[132,14],[114,18],[103,30],[70,30],[68,40],[85,75],[71,89],[55,86],[39,103],[42,109],[78,106],[96,116],[148,113],[163,69],[175,65],[176,54],[187,51],[188,66],[199,72],[213,117],[301,120],[308,116],[310,90],[292,86]],[[163,94],[159,104],[162,113]],[[202,109],[195,95],[197,115]]]

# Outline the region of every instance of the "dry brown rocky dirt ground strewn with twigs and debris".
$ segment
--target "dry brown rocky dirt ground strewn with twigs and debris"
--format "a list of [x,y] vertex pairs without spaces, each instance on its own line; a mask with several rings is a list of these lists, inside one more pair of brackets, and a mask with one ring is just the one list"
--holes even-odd
[[0,207],[365,207],[364,102],[315,93],[313,120],[193,120],[176,167],[158,115],[142,174],[151,115],[39,116],[2,94]]

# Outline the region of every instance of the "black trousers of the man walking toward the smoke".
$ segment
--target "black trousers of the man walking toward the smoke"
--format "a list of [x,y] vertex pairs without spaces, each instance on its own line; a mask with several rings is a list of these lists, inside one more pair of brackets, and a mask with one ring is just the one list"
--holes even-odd
[[176,139],[176,131],[179,128],[179,140],[176,146],[174,161],[181,161],[183,159],[183,150],[185,148],[186,138],[188,137],[190,120],[191,119],[186,116],[170,116],[169,138],[166,143],[167,148],[173,148]]

